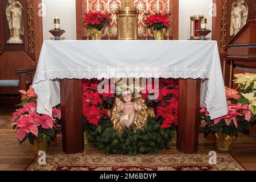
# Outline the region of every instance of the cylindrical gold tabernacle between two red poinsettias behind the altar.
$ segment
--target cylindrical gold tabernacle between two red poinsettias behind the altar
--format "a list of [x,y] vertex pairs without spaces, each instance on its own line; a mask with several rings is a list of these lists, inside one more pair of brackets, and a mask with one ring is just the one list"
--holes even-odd
[[126,7],[117,11],[118,40],[137,40],[138,11],[133,8],[133,5],[130,7],[129,3],[129,1],[126,1]]

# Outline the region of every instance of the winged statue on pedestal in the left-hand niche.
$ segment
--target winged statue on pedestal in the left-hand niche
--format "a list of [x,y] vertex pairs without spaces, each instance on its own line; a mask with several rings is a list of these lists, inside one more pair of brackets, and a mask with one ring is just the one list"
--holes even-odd
[[18,1],[8,0],[6,6],[6,17],[11,37],[7,43],[23,43],[20,35],[24,35],[23,7]]

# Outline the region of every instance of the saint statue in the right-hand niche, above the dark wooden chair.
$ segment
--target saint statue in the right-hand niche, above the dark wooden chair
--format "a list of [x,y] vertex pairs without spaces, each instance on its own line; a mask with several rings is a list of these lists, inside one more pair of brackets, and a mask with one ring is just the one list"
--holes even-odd
[[231,9],[230,36],[233,36],[245,25],[248,17],[248,6],[245,0],[237,0]]

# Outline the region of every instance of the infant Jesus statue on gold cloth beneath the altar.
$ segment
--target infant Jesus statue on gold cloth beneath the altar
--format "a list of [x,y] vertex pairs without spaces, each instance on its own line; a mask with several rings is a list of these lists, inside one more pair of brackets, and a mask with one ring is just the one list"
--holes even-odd
[[121,98],[115,98],[110,121],[117,131],[122,127],[141,129],[148,121],[145,101],[142,98],[135,99],[135,94],[130,89],[123,89]]

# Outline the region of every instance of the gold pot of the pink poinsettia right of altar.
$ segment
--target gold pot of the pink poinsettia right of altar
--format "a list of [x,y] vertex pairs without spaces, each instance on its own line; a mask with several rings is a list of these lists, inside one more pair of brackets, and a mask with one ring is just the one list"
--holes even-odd
[[232,151],[235,136],[224,135],[221,132],[214,134],[216,148],[219,152],[229,153]]

